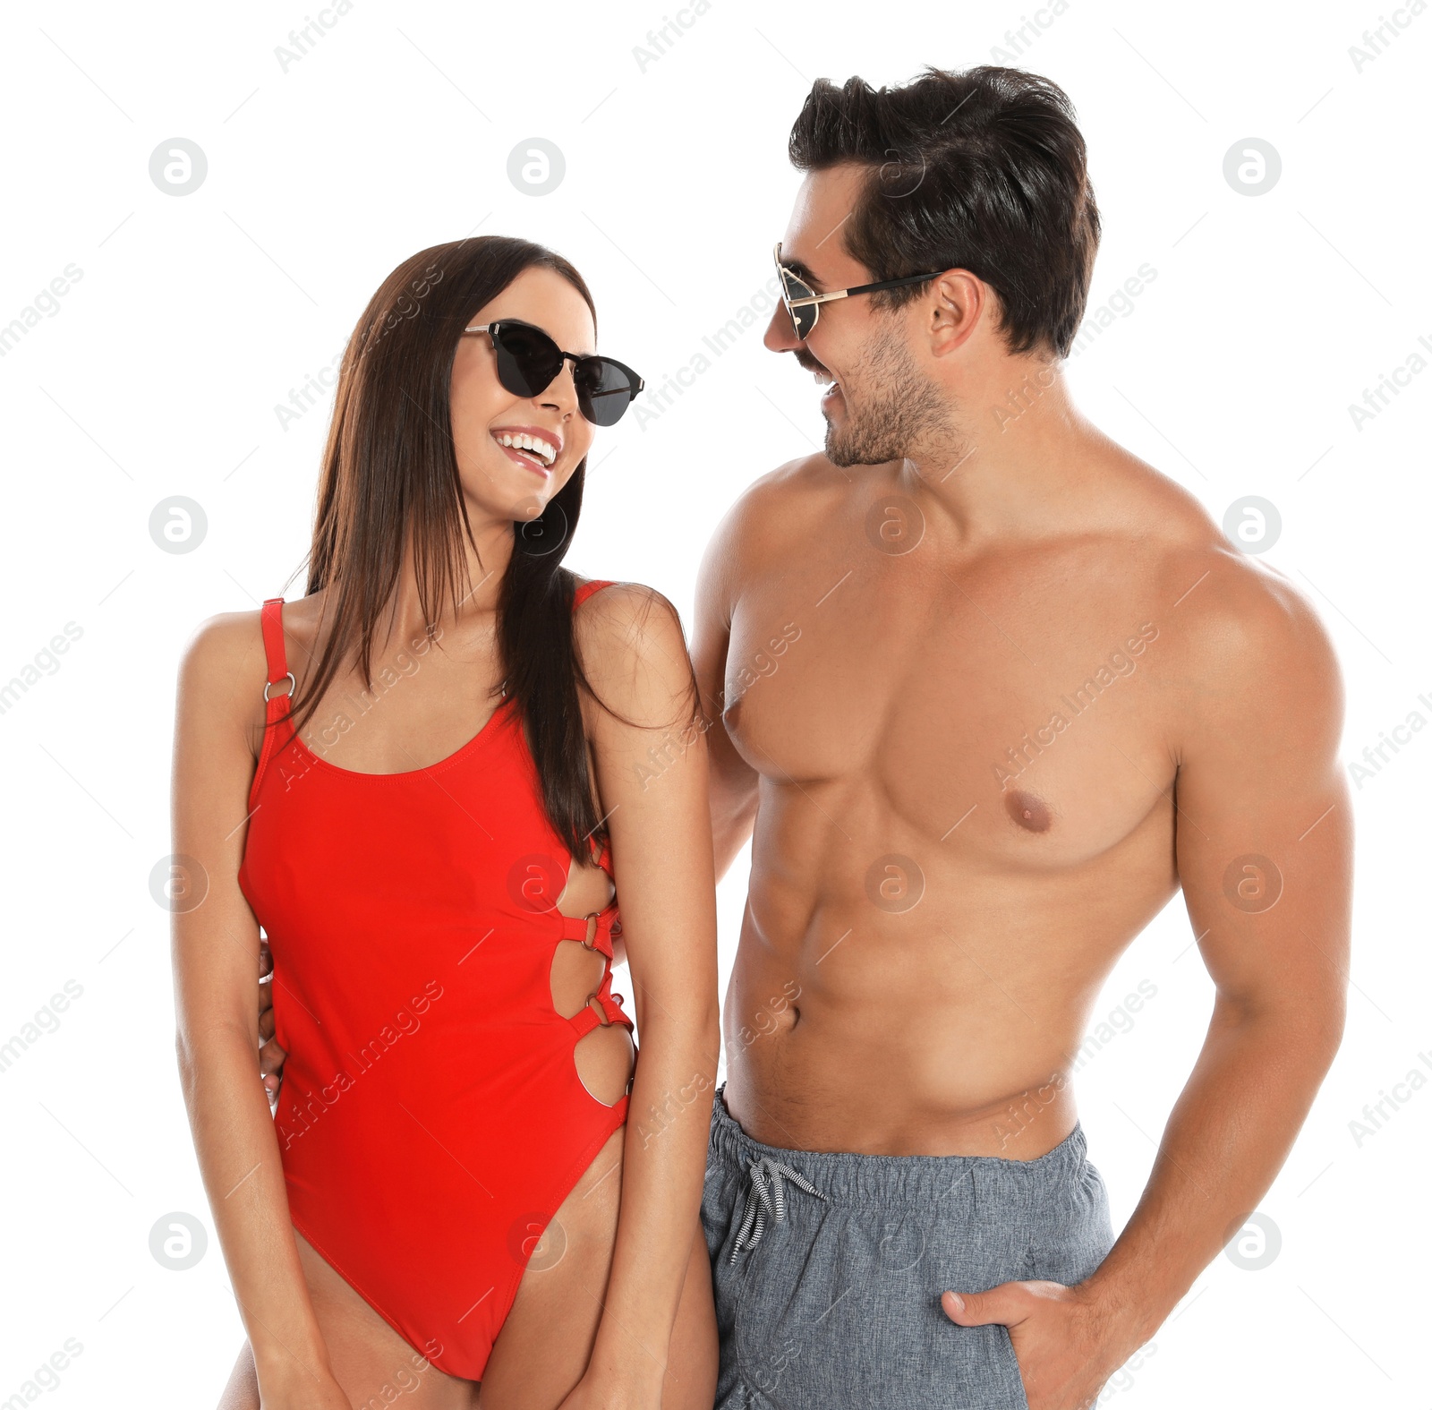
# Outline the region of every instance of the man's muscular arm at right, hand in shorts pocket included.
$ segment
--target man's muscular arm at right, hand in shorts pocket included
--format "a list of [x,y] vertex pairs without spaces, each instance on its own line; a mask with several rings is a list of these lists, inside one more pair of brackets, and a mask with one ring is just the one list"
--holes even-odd
[[[1220,566],[1189,673],[1176,847],[1217,989],[1144,1195],[1074,1288],[952,1298],[1011,1328],[1031,1410],[1081,1410],[1243,1227],[1287,1158],[1342,1039],[1352,817],[1337,762],[1342,684],[1322,626],[1279,579]],[[964,1305],[961,1305],[961,1303]]]

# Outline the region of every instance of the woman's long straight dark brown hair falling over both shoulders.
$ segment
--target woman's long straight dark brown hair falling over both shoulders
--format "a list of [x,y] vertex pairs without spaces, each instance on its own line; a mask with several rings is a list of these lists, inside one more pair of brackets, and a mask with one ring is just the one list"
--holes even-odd
[[[412,255],[358,320],[338,375],[308,556],[308,592],[328,589],[322,616],[332,629],[291,702],[295,728],[312,716],[345,661],[355,656],[372,685],[374,632],[395,608],[405,546],[430,636],[442,609],[471,593],[464,552],[471,526],[453,447],[453,358],[473,314],[534,267],[567,279],[596,322],[591,292],[571,264],[500,235]],[[573,641],[576,579],[561,566],[581,514],[586,469],[583,460],[540,517],[514,522],[497,608],[507,695],[527,731],[547,817],[579,860],[606,838],[577,692],[579,684],[589,692],[591,685]]]

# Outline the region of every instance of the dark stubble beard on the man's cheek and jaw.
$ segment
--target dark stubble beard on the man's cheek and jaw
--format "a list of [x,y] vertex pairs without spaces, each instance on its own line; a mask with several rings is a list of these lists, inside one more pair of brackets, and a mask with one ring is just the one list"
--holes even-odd
[[[849,393],[859,398],[859,410]],[[888,330],[841,384],[845,424],[826,421],[825,454],[831,464],[879,466],[925,447],[949,447],[962,456],[958,424],[948,401],[922,377],[905,342]],[[914,459],[919,459],[916,454]]]

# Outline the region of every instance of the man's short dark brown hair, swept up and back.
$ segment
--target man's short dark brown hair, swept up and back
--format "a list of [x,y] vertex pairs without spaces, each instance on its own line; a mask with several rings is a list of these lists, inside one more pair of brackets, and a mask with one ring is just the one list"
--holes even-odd
[[[968,269],[1000,297],[1011,352],[1067,357],[1098,249],[1074,105],[1021,69],[927,69],[878,92],[818,79],[790,129],[798,171],[863,163],[842,232],[874,279]],[[928,285],[874,294],[899,308]]]

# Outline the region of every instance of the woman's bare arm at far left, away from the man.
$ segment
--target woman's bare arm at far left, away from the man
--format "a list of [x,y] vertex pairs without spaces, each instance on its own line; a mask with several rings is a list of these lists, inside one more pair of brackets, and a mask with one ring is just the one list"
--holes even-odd
[[253,1080],[259,927],[239,890],[255,701],[263,662],[255,613],[215,618],[179,672],[173,850],[189,898],[173,913],[179,1075],[209,1208],[253,1348],[265,1410],[349,1410],[328,1367],[298,1261],[263,1088]]

